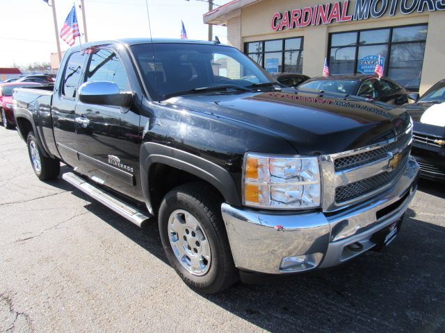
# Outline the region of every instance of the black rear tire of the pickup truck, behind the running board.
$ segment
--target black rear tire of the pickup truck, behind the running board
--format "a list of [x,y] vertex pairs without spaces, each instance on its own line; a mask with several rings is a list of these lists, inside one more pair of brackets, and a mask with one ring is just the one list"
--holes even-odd
[[[29,159],[31,160],[31,166],[33,167],[35,175],[38,176],[40,180],[57,178],[60,173],[59,160],[42,155],[42,151],[40,151],[40,147],[33,132],[29,132],[26,143],[28,145]],[[34,154],[38,154],[40,164],[35,164],[35,162],[33,162],[33,153],[31,153],[31,151],[33,151]],[[38,165],[40,165],[40,167],[38,167]]]

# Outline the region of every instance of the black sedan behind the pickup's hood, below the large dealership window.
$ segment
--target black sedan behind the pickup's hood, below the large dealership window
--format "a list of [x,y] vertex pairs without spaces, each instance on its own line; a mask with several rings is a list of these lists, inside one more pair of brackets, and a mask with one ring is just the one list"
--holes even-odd
[[379,80],[375,75],[367,74],[332,75],[327,78],[317,76],[310,78],[298,87],[321,92],[355,95],[390,105],[408,103],[410,94],[407,89],[390,78],[384,76]]

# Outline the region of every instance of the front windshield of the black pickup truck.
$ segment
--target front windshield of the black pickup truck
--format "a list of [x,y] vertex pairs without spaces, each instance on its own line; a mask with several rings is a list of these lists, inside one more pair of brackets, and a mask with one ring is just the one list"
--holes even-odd
[[[137,44],[131,46],[131,51],[145,86],[156,101],[196,88],[249,87],[261,83],[277,83],[250,58],[229,46]],[[196,89],[195,93],[208,91],[209,89]]]

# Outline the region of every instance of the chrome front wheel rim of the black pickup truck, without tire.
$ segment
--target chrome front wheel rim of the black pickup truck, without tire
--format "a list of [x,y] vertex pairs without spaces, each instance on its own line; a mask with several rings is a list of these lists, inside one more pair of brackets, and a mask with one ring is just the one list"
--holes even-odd
[[193,275],[205,275],[211,264],[210,244],[195,216],[185,210],[175,210],[168,219],[168,234],[181,265]]

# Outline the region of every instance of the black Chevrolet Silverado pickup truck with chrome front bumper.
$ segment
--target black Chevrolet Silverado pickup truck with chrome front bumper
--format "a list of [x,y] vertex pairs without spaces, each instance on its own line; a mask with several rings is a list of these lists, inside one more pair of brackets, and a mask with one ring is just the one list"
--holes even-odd
[[157,217],[170,263],[204,293],[379,249],[416,191],[405,110],[284,87],[216,42],[77,46],[54,92],[14,99],[38,178],[64,162],[63,179],[129,221]]

